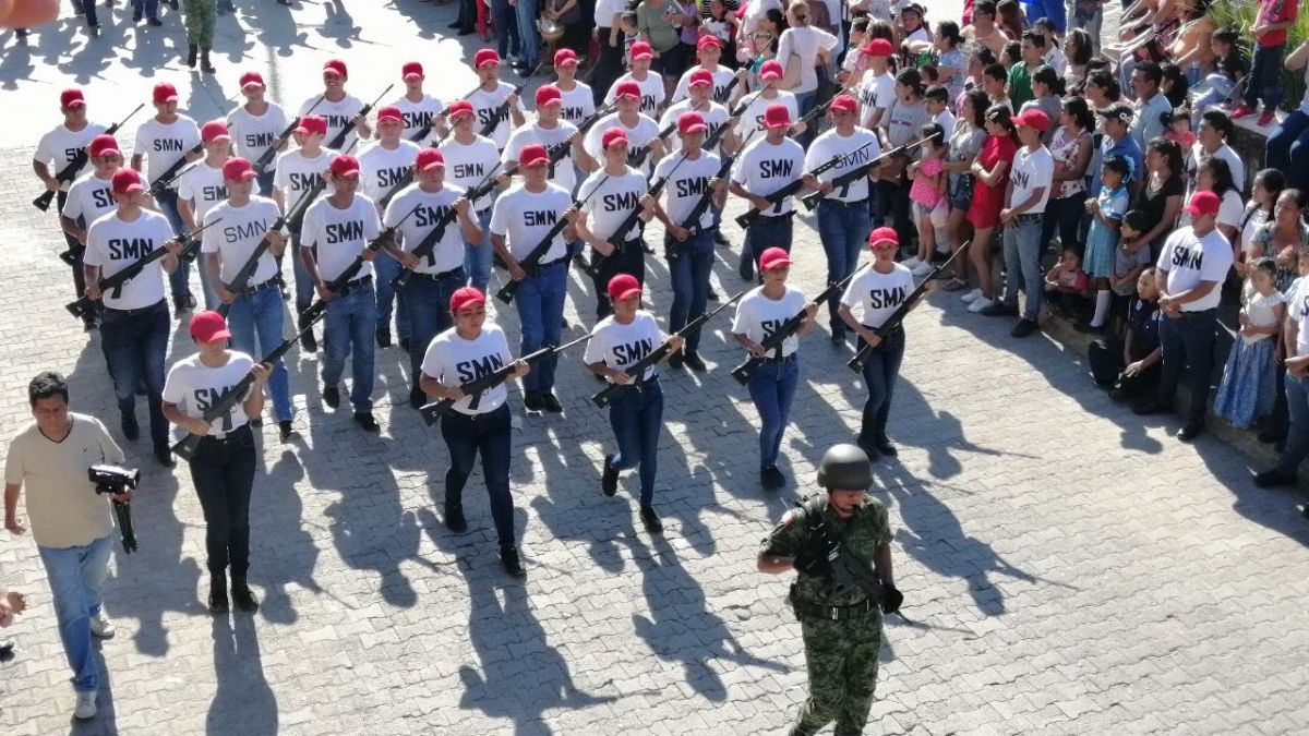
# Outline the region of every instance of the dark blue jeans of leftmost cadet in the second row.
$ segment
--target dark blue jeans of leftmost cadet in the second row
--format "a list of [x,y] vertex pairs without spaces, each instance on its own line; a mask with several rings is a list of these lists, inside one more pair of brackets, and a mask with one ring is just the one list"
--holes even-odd
[[124,418],[136,416],[136,385],[145,382],[154,447],[166,445],[169,436],[164,419],[164,355],[170,333],[168,304],[162,299],[136,314],[106,308],[99,327],[118,410]]

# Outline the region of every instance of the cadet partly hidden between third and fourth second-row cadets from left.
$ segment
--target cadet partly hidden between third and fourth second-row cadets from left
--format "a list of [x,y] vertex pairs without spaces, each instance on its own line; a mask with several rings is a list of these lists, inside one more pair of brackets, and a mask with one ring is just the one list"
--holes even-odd
[[[414,160],[419,147],[401,138],[404,115],[399,107],[386,106],[377,111],[377,143],[359,155],[360,190],[377,204],[378,215],[386,208],[389,194],[404,179],[412,182]],[[407,186],[407,185],[406,185]],[[391,347],[391,304],[395,303],[395,327],[401,350],[408,351],[408,313],[403,295],[397,295],[391,280],[399,275],[401,265],[390,255],[378,255],[373,262],[377,271],[377,347]]]

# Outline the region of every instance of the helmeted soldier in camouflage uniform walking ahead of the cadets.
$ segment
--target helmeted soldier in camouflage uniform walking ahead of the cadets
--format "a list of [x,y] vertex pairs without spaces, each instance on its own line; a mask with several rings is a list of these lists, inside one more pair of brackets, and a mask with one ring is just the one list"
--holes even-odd
[[[787,512],[763,540],[761,572],[800,574],[789,600],[804,634],[809,699],[792,736],[833,720],[836,736],[863,733],[873,706],[882,612],[898,610],[905,596],[895,589],[886,507],[865,495],[872,483],[864,451],[833,447],[818,468],[827,492]],[[834,567],[844,564],[863,566],[867,584],[848,584]]]

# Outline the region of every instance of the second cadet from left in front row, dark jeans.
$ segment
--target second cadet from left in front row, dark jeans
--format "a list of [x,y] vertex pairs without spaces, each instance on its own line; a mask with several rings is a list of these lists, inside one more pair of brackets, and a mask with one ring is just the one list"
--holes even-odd
[[482,454],[482,477],[491,499],[491,517],[500,542],[500,563],[514,578],[526,572],[518,558],[513,533],[513,496],[509,494],[509,458],[512,426],[509,390],[504,384],[484,392],[473,406],[459,385],[511,363],[514,378],[528,375],[528,364],[509,356],[504,331],[487,323],[486,296],[473,287],[461,287],[450,296],[454,327],[439,334],[423,356],[423,390],[433,398],[454,402],[441,415],[441,437],[450,453],[445,471],[445,526],[456,534],[467,530],[463,519],[463,486],[473,473],[473,464]]

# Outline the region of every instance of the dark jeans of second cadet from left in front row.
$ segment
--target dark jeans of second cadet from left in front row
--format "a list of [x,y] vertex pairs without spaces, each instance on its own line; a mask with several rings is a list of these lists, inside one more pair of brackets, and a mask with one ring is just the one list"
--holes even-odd
[[509,405],[486,414],[467,415],[446,411],[441,415],[441,436],[450,453],[445,471],[445,503],[463,503],[463,486],[473,474],[473,465],[482,453],[482,478],[491,500],[491,519],[501,547],[513,542],[513,496],[509,495]]

